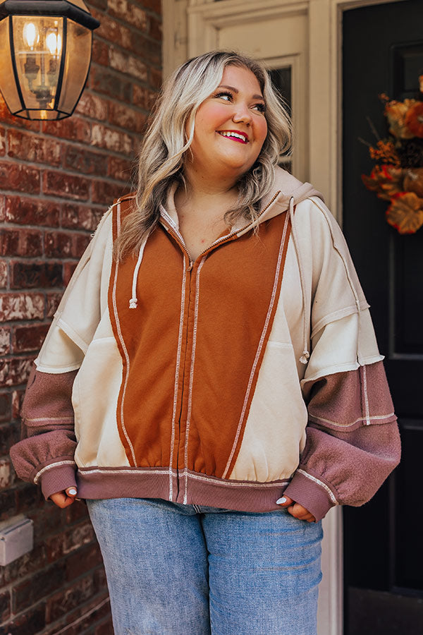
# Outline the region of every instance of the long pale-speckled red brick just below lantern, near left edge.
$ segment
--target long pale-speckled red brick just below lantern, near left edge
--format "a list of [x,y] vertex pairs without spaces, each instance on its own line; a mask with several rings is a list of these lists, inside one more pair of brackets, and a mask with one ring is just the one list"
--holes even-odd
[[37,137],[19,130],[8,130],[8,156],[35,163],[61,164],[62,145],[56,139]]

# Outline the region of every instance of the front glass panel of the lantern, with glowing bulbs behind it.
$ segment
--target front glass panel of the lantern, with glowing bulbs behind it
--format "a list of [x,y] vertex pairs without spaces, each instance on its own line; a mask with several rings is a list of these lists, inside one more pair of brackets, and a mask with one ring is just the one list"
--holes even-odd
[[56,119],[54,102],[63,52],[63,18],[12,19],[16,70],[25,107],[31,119]]

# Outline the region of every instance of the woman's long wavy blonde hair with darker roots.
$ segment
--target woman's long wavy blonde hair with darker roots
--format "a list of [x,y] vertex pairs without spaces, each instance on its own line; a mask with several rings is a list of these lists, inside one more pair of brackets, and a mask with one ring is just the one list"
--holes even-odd
[[159,205],[166,205],[171,183],[185,183],[184,163],[194,136],[195,115],[204,99],[219,86],[226,66],[240,66],[255,74],[266,103],[267,135],[255,164],[237,183],[238,200],[226,212],[225,220],[231,226],[241,217],[257,217],[260,200],[274,185],[278,159],[290,150],[290,119],[261,63],[236,52],[212,51],[186,61],[174,71],[154,107],[140,149],[135,205],[115,244],[118,260],[137,253],[157,225]]

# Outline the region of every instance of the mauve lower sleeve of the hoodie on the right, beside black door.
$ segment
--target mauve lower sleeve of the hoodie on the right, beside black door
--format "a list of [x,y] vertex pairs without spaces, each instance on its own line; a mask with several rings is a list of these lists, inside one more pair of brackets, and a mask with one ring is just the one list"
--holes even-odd
[[400,437],[382,362],[306,382],[307,440],[286,488],[317,520],[367,502],[398,465]]

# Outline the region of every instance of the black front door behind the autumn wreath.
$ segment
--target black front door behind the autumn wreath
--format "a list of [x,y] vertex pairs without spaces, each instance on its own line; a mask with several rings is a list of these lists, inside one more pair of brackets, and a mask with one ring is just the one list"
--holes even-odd
[[[362,184],[387,126],[380,93],[418,97],[423,0],[343,14],[343,229],[371,305],[403,461],[376,497],[344,510],[345,635],[423,635],[423,227],[400,236]],[[423,167],[423,164],[422,164]]]

